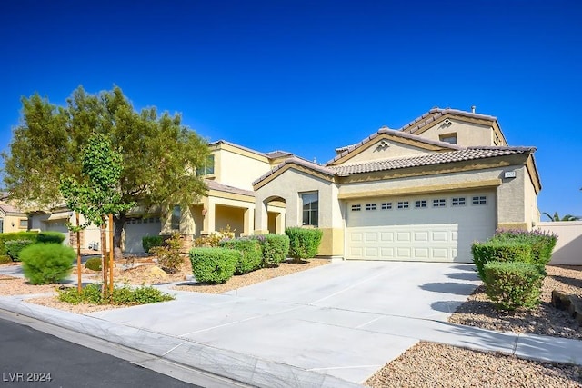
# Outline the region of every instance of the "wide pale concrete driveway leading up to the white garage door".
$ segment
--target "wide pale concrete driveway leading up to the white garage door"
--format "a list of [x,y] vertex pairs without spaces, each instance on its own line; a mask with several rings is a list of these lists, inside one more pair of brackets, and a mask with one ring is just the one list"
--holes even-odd
[[447,335],[477,284],[471,264],[340,262],[89,315],[362,383],[419,340]]

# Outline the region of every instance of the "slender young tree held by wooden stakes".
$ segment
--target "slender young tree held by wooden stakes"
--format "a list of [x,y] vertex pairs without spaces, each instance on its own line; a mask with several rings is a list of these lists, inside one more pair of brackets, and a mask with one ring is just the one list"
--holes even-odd
[[104,134],[94,134],[82,151],[82,180],[65,177],[59,186],[66,205],[85,215],[85,224],[76,225],[77,228],[85,228],[90,223],[101,227],[104,294],[113,288],[113,279],[107,281],[105,225],[108,214],[126,212],[135,205],[123,202],[117,188],[123,169],[122,160],[121,154],[113,149]]

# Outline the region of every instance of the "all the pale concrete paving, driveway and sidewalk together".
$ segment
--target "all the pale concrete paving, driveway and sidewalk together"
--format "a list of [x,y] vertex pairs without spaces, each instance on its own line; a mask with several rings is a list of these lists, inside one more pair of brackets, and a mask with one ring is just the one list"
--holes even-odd
[[582,364],[582,342],[447,323],[477,286],[469,264],[341,262],[224,294],[79,315],[0,308],[256,386],[351,386],[419,341]]

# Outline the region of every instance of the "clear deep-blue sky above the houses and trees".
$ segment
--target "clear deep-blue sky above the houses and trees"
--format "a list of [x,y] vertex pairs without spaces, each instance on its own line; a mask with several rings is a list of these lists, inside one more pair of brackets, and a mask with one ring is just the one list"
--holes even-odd
[[582,3],[5,1],[0,149],[21,96],[119,85],[209,141],[325,163],[433,106],[537,147],[542,212],[582,215]]

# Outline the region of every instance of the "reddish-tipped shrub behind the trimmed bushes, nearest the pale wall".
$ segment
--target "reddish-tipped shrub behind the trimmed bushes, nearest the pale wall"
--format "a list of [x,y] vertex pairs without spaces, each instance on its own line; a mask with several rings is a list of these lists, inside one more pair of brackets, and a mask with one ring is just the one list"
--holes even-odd
[[557,235],[540,231],[501,230],[496,232],[492,240],[518,241],[530,244],[533,263],[545,267],[552,260]]

